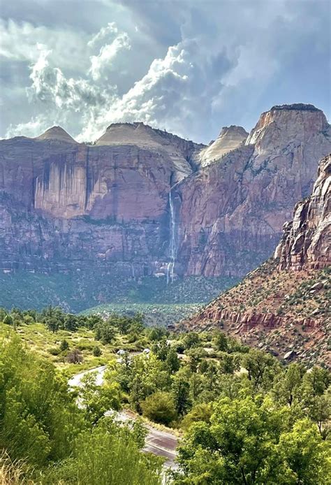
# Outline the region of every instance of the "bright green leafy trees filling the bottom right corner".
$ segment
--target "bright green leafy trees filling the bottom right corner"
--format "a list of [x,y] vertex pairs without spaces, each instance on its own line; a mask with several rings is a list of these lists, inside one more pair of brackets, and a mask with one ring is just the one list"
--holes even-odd
[[175,483],[324,484],[328,444],[309,419],[290,425],[288,407],[257,396],[214,404],[210,423],[191,424]]

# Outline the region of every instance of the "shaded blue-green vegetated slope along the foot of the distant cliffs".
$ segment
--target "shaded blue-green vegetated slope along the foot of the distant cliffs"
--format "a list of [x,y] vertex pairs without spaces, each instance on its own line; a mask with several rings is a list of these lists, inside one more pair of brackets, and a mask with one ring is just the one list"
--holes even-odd
[[[0,274],[1,305],[7,308],[36,308],[55,305],[67,312],[82,312],[107,303],[119,304],[128,314],[139,305],[199,305],[216,298],[233,286],[233,277],[187,277],[166,284],[165,277],[128,277],[82,270],[80,273],[27,273],[16,271]],[[118,310],[116,310],[118,311]],[[147,306],[143,312],[149,314]],[[168,310],[161,313],[167,317]],[[170,322],[167,322],[170,323]]]

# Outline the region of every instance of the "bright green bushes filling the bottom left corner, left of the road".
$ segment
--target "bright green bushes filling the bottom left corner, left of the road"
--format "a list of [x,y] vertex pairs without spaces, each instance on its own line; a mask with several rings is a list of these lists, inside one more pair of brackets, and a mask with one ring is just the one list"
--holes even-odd
[[[141,426],[103,417],[120,407],[119,384],[99,387],[89,375],[78,407],[66,379],[19,338],[0,347],[0,447],[8,451],[0,461],[11,480],[3,483],[161,484],[160,459],[140,451]],[[22,458],[24,466],[16,465]]]

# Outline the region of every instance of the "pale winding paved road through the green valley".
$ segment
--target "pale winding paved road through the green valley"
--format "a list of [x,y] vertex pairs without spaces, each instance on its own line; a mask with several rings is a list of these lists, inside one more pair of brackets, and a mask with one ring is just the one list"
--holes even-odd
[[[86,374],[91,372],[96,372],[96,383],[101,386],[103,383],[103,376],[105,374],[105,365],[101,365],[100,367],[96,367],[94,369],[84,370],[79,372],[78,374],[74,375],[69,381],[69,386],[81,386],[82,385],[82,377]],[[110,412],[109,414],[112,414]],[[117,421],[134,421],[136,419],[136,415],[128,410],[123,410],[117,413],[116,416]],[[165,431],[161,431],[154,426],[146,425],[148,430],[148,434],[145,440],[145,451],[149,451],[150,453],[154,453],[158,456],[164,456],[166,458],[165,466],[168,468],[175,468],[175,457],[176,457],[176,447],[178,443],[177,436],[172,433],[168,433]]]

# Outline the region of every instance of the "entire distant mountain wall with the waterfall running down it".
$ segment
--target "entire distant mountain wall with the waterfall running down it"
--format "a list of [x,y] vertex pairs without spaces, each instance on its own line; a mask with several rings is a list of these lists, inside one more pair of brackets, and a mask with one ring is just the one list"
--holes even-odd
[[330,151],[310,105],[274,106],[249,136],[230,126],[209,147],[142,123],[111,124],[93,144],[59,126],[1,140],[2,303],[23,281],[23,300],[66,309],[149,301],[183,278],[177,302],[197,303],[199,278],[208,298],[272,254]]

